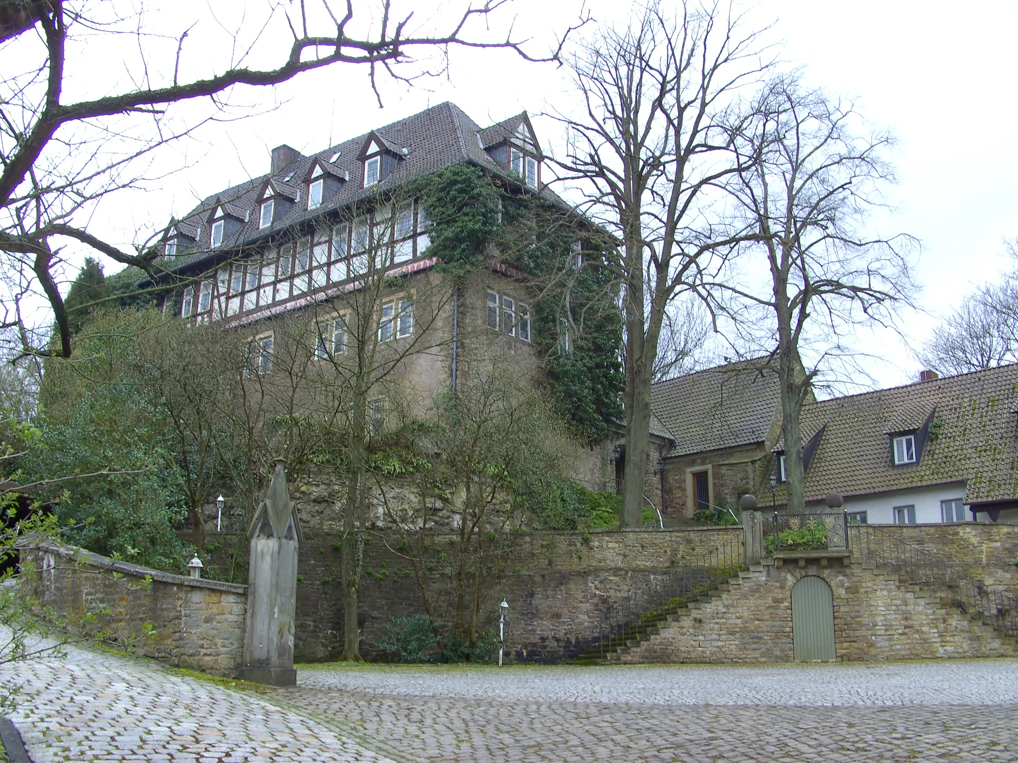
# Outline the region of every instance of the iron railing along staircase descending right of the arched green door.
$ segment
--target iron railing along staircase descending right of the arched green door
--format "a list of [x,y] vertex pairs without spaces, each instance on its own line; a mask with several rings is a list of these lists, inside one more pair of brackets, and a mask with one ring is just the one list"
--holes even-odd
[[852,554],[943,591],[951,604],[1008,636],[1018,636],[1018,596],[873,525],[852,525]]

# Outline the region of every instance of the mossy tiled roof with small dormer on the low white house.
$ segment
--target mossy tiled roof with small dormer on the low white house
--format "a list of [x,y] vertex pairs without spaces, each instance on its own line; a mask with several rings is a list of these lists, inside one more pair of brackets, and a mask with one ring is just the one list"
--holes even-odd
[[[935,411],[916,464],[892,466],[891,434]],[[967,501],[1018,496],[1018,364],[807,405],[803,436],[827,425],[806,473],[806,500],[964,480]]]

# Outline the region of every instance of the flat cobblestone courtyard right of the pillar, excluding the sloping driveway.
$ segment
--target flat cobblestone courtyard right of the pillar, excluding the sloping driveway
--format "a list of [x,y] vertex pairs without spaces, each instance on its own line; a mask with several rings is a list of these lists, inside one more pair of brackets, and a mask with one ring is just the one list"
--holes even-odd
[[304,666],[298,683],[276,701],[419,761],[1018,760],[1018,660]]

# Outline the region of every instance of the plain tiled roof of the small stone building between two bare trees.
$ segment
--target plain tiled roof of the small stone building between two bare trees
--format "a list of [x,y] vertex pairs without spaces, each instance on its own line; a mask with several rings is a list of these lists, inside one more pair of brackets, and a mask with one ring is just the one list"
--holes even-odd
[[779,415],[778,376],[765,359],[743,360],[651,388],[651,409],[675,447],[670,456],[762,443]]

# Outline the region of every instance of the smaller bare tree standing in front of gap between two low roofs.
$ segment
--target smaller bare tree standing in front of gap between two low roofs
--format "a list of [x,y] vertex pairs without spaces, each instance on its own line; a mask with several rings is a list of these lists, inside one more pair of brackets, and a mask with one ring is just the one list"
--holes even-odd
[[861,120],[851,105],[789,74],[760,91],[750,114],[733,123],[741,169],[726,181],[753,233],[743,255],[762,257],[770,279],[759,290],[719,286],[762,308],[760,320],[744,321],[743,330],[769,327],[764,341],[773,340],[780,377],[788,507],[802,512],[799,420],[818,368],[804,367],[800,349],[823,356],[850,327],[886,322],[909,304],[911,239],[865,235],[867,213],[894,179],[883,158],[891,137],[856,134]]

